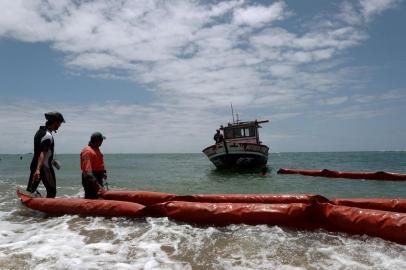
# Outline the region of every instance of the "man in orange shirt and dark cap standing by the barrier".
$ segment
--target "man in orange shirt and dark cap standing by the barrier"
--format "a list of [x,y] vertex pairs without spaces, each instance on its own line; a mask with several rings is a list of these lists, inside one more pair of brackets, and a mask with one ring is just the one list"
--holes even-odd
[[89,144],[80,152],[80,168],[85,199],[97,199],[104,190],[103,180],[107,179],[107,171],[104,167],[100,146],[105,139],[106,137],[100,132],[94,132],[90,136]]

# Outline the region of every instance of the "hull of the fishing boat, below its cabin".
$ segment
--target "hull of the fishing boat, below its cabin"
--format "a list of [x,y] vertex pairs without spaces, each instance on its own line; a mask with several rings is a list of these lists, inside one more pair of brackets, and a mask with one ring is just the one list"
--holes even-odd
[[268,162],[269,148],[266,145],[237,143],[212,145],[203,153],[219,169],[258,168]]

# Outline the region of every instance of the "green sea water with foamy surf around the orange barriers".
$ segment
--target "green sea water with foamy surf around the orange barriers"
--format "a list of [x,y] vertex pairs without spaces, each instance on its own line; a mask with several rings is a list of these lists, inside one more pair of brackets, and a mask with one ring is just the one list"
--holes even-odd
[[[0,155],[0,269],[406,269],[406,246],[279,226],[46,215],[27,209],[31,155]],[[83,197],[79,156],[58,155],[59,197]],[[269,174],[218,171],[203,154],[106,154],[110,190],[406,198],[406,182],[278,175],[279,168],[406,173],[406,152],[271,153]],[[46,194],[40,185],[40,192]],[[406,232],[405,232],[406,233]]]

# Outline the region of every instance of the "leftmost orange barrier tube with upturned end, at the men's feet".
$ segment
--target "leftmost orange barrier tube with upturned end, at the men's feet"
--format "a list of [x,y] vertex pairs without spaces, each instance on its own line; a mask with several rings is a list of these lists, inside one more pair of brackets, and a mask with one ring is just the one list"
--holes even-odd
[[27,207],[49,215],[83,215],[103,217],[140,217],[144,205],[107,200],[89,200],[73,198],[32,198],[19,191],[17,196]]

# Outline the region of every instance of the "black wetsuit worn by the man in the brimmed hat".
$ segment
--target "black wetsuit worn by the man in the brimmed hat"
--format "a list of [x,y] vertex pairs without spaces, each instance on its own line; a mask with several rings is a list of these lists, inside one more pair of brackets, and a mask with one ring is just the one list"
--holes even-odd
[[40,170],[40,180],[47,190],[47,198],[55,198],[56,196],[56,181],[55,172],[52,168],[52,160],[54,156],[54,138],[52,133],[45,127],[41,126],[34,136],[34,156],[32,157],[30,166],[30,178],[28,180],[27,191],[34,192],[37,190],[40,181],[33,181],[33,175],[38,166],[38,157],[41,152],[46,152],[44,164]]

